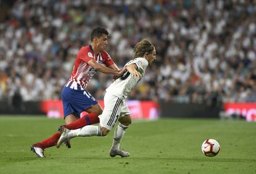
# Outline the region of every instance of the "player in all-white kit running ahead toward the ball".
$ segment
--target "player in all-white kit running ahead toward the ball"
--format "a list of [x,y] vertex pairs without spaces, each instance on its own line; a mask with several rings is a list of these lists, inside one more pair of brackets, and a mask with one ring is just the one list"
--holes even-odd
[[114,131],[113,144],[109,155],[111,157],[115,157],[116,155],[129,157],[129,152],[123,151],[119,147],[126,129],[132,122],[125,99],[143,77],[148,64],[151,64],[155,59],[155,46],[153,46],[150,41],[143,39],[137,43],[134,47],[134,60],[130,60],[130,62],[125,65],[126,73],[124,73],[122,77],[117,78],[117,80],[111,83],[106,89],[104,97],[105,108],[103,113],[99,116],[100,125],[87,125],[77,130],[68,130],[63,127],[57,147],[61,146],[67,139],[76,136],[106,136],[118,120],[119,125]]

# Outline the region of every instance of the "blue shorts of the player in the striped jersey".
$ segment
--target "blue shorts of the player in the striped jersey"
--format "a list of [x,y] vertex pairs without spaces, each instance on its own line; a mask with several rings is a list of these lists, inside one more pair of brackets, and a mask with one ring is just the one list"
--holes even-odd
[[80,114],[83,110],[98,104],[95,98],[88,93],[86,89],[76,90],[66,86],[62,88],[61,100],[63,104],[64,118],[70,114],[74,114],[80,118]]

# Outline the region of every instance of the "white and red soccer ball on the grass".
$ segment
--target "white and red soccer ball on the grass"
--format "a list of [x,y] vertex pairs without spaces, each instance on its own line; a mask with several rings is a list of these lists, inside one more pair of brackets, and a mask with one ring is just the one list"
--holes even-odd
[[220,144],[215,139],[207,139],[203,141],[202,152],[207,157],[214,157],[220,152]]

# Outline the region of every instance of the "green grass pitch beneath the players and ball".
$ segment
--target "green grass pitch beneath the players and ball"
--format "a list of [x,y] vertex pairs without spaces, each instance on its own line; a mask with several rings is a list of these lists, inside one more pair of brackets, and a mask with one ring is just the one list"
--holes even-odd
[[[45,117],[0,117],[0,173],[256,173],[256,123],[244,120],[160,119],[136,122],[121,147],[130,157],[109,157],[113,131],[103,138],[74,138],[72,148],[30,146],[63,124]],[[205,157],[201,144],[216,139],[221,151]]]

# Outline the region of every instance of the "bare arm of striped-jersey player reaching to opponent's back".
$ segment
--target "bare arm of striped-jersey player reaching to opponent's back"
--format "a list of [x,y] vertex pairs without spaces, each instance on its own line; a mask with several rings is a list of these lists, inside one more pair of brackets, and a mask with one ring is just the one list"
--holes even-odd
[[105,67],[101,64],[98,64],[98,62],[96,62],[96,60],[94,60],[94,59],[89,60],[87,62],[87,64],[89,64],[95,70],[97,70],[99,72],[107,73],[107,74],[113,74],[113,75],[121,76],[124,73],[124,70],[121,70],[121,71],[113,70],[111,68],[108,68],[108,67]]

